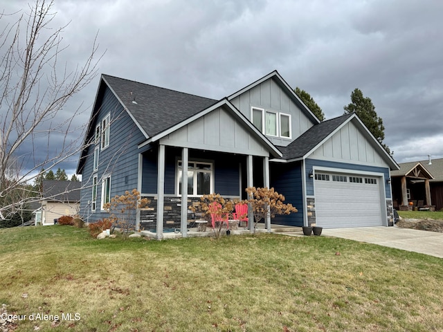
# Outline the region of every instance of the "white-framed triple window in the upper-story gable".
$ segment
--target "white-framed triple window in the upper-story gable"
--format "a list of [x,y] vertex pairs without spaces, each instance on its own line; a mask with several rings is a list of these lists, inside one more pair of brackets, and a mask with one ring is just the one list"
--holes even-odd
[[285,113],[251,108],[251,119],[266,136],[291,138],[291,116]]

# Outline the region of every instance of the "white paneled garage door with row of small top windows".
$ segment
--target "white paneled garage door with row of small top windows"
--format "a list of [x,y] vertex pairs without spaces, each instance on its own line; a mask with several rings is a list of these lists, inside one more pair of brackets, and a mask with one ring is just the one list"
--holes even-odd
[[316,173],[316,223],[323,228],[380,226],[377,177]]

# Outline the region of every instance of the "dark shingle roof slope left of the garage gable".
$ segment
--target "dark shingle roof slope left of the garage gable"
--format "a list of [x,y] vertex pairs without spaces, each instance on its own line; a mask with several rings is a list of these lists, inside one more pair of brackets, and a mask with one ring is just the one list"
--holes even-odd
[[320,142],[322,142],[329,134],[337,129],[343,122],[349,119],[353,113],[339,116],[331,120],[325,120],[319,124],[315,124],[309,128],[300,137],[287,145],[287,147],[278,147],[282,151],[283,159],[296,159],[305,156],[311,149],[314,149]]

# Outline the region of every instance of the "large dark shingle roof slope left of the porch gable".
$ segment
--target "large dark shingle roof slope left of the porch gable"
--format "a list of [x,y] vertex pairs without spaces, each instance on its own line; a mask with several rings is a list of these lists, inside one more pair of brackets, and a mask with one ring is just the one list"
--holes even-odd
[[110,75],[102,75],[102,78],[150,137],[217,102]]

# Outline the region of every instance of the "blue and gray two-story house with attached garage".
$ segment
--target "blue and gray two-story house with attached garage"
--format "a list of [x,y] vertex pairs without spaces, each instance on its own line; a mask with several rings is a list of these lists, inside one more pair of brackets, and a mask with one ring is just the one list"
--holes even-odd
[[[392,223],[398,169],[355,114],[320,122],[277,71],[221,100],[102,75],[77,173],[81,210],[136,188],[150,199],[137,227],[180,227],[202,194],[244,199],[274,187],[298,213],[272,223],[325,228]],[[182,190],[187,188],[187,190]]]

